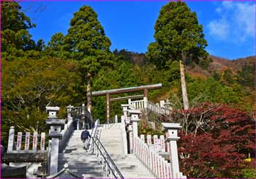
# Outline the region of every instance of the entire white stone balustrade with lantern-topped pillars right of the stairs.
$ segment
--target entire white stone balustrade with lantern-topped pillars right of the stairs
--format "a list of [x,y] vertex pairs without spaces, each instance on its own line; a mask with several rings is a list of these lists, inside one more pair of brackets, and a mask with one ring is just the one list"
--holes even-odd
[[[168,103],[168,102],[167,102]],[[177,140],[179,123],[162,123],[165,135],[138,137],[138,123],[140,122],[140,110],[148,109],[154,113],[165,114],[167,109],[165,101],[153,104],[145,99],[140,101],[129,100],[129,106],[123,104],[123,121],[128,124],[129,151],[150,170],[156,178],[187,178],[179,171]],[[129,114],[130,117],[127,115]],[[129,118],[129,119],[128,119]]]

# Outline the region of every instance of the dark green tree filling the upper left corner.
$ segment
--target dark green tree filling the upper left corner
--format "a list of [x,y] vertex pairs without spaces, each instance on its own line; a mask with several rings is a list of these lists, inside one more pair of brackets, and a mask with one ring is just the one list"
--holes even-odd
[[16,1],[1,1],[1,52],[2,57],[14,60],[24,55],[31,56],[34,51],[24,54],[28,50],[42,50],[44,42],[37,43],[31,39],[28,29],[36,25],[31,23],[28,16],[21,11]]

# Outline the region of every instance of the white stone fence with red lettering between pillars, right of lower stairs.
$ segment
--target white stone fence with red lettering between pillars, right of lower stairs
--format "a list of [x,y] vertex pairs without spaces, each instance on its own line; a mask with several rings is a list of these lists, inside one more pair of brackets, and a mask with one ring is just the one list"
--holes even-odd
[[[153,141],[152,141],[153,140]],[[166,142],[164,135],[153,136],[142,134],[133,137],[133,153],[150,170],[156,178],[186,178],[179,172],[176,164],[177,152],[171,152],[171,142]],[[177,148],[176,148],[177,150]],[[177,155],[177,156],[174,156]]]

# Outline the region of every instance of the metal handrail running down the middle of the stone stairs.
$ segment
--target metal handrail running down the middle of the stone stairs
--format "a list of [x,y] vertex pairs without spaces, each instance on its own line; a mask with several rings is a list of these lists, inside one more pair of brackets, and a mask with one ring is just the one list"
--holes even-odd
[[96,140],[99,142],[99,144],[101,145],[101,147],[103,148],[105,154],[107,155],[107,158],[104,156],[104,154],[102,153],[102,151],[99,148],[99,145],[97,145],[97,142],[94,140],[94,137],[91,137],[91,140],[94,142],[94,144],[97,146],[99,152],[101,153],[101,155],[103,156],[103,159],[105,160],[106,164],[108,164],[109,169],[111,170],[112,174],[114,175],[115,178],[118,178],[115,174],[115,172],[113,171],[113,168],[110,167],[110,164],[108,163],[107,158],[109,159],[110,163],[112,164],[112,166],[115,168],[116,172],[118,173],[120,178],[124,178],[123,175],[121,175],[121,172],[118,170],[118,168],[116,167],[116,164],[114,163],[114,161],[111,159],[111,157],[109,156],[108,152],[105,150],[104,146],[102,145],[102,142],[99,141],[99,139],[96,137]]

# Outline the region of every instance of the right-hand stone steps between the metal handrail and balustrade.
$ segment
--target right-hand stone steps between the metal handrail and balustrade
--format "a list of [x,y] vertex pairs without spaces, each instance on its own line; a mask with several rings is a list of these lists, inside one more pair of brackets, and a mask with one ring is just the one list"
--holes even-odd
[[102,126],[100,141],[124,178],[154,178],[133,154],[124,154],[121,123]]

